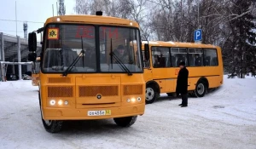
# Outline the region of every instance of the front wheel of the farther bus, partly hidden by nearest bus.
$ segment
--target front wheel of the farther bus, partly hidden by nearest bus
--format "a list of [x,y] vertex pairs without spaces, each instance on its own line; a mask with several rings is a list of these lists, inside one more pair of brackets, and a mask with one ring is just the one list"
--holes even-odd
[[152,104],[159,96],[158,91],[153,84],[148,84],[146,87],[146,104]]

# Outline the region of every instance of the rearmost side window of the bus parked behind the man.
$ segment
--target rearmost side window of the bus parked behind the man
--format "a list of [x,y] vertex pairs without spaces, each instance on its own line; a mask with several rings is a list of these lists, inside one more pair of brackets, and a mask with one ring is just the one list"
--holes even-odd
[[218,66],[218,57],[216,49],[205,49],[205,66]]

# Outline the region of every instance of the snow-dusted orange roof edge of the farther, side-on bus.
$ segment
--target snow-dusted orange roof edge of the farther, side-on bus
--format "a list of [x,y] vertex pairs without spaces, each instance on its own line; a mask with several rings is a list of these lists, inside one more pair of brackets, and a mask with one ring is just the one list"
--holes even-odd
[[144,44],[149,43],[149,46],[159,46],[159,47],[186,47],[186,48],[212,48],[216,49],[218,46],[212,44],[202,44],[202,43],[179,43],[179,42],[163,42],[163,41],[143,41]]

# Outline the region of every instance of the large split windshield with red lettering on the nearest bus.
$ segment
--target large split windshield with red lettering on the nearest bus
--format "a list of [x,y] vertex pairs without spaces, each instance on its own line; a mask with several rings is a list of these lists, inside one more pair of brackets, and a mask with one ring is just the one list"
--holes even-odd
[[[120,26],[49,25],[46,28],[43,72],[124,72],[111,53],[131,72],[143,72],[139,30]],[[81,38],[83,40],[81,40]],[[84,55],[81,54],[82,41]]]

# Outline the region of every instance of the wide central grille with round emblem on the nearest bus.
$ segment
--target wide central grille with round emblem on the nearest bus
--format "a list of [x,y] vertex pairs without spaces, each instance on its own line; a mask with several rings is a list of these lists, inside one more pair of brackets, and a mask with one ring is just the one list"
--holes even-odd
[[116,96],[119,95],[118,86],[80,86],[79,87],[79,97],[86,96]]

